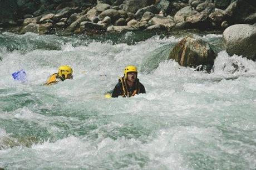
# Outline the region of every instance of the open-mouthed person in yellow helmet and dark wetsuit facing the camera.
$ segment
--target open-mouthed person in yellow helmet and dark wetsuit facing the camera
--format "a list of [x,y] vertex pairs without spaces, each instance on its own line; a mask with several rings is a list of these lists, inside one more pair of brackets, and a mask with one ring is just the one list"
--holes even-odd
[[146,93],[144,85],[137,79],[137,73],[136,66],[126,66],[124,76],[119,79],[114,90],[112,90],[111,97],[132,97],[136,94]]

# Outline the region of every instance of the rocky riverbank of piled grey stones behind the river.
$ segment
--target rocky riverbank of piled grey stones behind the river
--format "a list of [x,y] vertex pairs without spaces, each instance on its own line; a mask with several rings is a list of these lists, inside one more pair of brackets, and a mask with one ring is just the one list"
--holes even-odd
[[18,34],[224,30],[255,22],[253,0],[0,1],[0,29]]

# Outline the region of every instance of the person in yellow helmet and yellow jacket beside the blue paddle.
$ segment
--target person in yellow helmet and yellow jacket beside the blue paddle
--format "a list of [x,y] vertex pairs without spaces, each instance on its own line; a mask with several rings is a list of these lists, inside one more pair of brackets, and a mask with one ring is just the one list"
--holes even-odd
[[46,81],[45,85],[56,84],[59,81],[64,81],[66,79],[73,79],[73,70],[68,65],[62,65],[58,68],[58,73],[52,74]]

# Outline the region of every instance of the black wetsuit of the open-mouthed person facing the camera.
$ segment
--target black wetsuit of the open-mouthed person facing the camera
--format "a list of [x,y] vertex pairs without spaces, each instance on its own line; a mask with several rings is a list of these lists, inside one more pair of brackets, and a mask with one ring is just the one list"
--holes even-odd
[[[136,79],[136,81],[139,81],[139,79]],[[126,83],[126,87],[127,87],[127,91],[131,96],[131,94],[136,90],[136,83],[134,83],[134,85],[132,85],[131,87],[129,87],[129,85],[127,85]],[[145,87],[140,83],[140,81],[139,81],[139,91],[137,91],[136,94],[139,94],[139,93],[146,93]],[[121,80],[119,80],[119,83],[117,83],[114,90],[112,90],[112,97],[122,96],[123,94],[124,94],[124,90],[122,88]]]

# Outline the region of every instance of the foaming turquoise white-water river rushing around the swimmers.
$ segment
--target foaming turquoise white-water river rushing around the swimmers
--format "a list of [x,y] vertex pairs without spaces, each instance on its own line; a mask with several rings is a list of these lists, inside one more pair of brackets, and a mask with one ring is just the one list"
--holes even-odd
[[[166,60],[182,34],[2,33],[0,167],[255,169],[256,64],[229,56],[221,35],[194,36],[219,52],[211,74]],[[43,86],[64,64],[74,79]],[[129,64],[147,93],[105,99]]]

